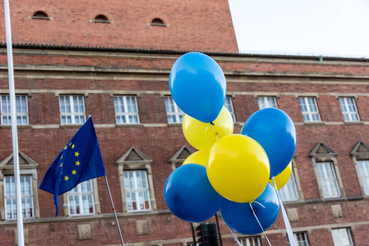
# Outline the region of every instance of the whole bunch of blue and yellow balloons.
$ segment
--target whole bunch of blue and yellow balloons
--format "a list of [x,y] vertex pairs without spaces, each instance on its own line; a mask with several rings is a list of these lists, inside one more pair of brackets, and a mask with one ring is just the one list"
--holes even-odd
[[280,205],[268,181],[276,176],[280,188],[292,170],[296,129],[290,117],[277,108],[265,108],[246,120],[240,134],[233,134],[232,116],[223,106],[223,71],[202,53],[186,53],[176,60],[169,87],[185,113],[183,134],[199,150],[165,182],[170,211],[184,221],[202,222],[220,210],[236,232],[254,235],[268,229]]

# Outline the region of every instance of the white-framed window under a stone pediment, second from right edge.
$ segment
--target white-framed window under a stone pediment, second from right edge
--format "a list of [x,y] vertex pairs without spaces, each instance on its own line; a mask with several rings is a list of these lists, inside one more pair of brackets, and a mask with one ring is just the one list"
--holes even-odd
[[339,187],[337,177],[334,171],[332,162],[320,162],[317,163],[317,171],[321,189],[323,191],[323,197],[339,197]]

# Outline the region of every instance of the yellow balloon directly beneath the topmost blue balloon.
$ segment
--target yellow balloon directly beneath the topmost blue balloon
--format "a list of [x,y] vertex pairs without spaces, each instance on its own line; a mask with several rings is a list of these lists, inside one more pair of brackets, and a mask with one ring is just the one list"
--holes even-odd
[[217,137],[220,139],[233,133],[233,118],[224,106],[213,123],[214,128],[185,114],[182,122],[184,137],[194,148],[208,151]]

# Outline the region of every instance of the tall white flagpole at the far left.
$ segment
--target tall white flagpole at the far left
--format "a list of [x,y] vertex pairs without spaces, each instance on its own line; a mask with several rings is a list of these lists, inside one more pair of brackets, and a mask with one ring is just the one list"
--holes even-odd
[[9,0],[4,0],[4,7],[5,7],[4,13],[5,13],[5,30],[6,30],[6,49],[7,49],[7,55],[8,55],[11,135],[12,135],[12,140],[13,140],[15,195],[16,195],[16,200],[17,200],[18,245],[24,246],[23,216],[22,216],[22,202],[21,202],[22,198],[21,198],[21,190],[20,190],[21,184],[20,184],[20,175],[19,175],[17,117],[15,115],[14,67],[13,67],[13,49],[12,49],[11,29],[10,29]]

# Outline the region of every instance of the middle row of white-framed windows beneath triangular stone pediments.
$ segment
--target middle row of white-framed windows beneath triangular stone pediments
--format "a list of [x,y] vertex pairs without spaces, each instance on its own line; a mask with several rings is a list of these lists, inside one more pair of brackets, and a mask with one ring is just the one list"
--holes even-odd
[[[363,184],[364,195],[369,195],[369,160],[357,161],[359,179]],[[323,198],[340,197],[340,187],[337,180],[334,164],[332,162],[317,162],[317,179],[320,184]],[[151,210],[150,189],[146,170],[123,172],[125,200],[127,211]],[[4,197],[6,204],[6,219],[16,216],[15,182],[14,176],[6,176],[4,182]],[[32,176],[21,176],[21,195],[24,218],[33,218],[33,188]],[[294,170],[287,184],[279,190],[282,201],[299,200],[299,192]],[[94,196],[91,180],[79,184],[68,192],[68,206],[70,215],[94,214]]]

